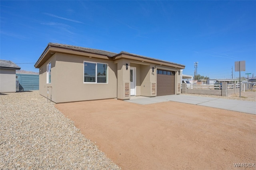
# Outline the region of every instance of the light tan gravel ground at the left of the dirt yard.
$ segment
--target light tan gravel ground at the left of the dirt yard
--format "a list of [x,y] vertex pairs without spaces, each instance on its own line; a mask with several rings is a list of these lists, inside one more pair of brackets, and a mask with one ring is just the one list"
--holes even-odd
[[38,91],[0,95],[0,169],[120,169]]

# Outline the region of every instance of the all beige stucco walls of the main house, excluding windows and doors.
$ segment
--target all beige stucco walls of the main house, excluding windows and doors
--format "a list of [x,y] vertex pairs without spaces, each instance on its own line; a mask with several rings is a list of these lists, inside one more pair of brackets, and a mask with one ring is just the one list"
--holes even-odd
[[[84,83],[84,61],[108,64],[108,83]],[[51,62],[51,83],[47,80],[47,65]],[[128,69],[126,70],[126,64]],[[55,53],[40,67],[39,91],[55,103],[118,98],[130,99],[130,67],[136,67],[136,96],[154,97],[157,69],[155,64],[130,59],[100,59]],[[154,67],[154,72],[153,68]],[[180,75],[174,67],[162,69],[176,71],[175,94]]]

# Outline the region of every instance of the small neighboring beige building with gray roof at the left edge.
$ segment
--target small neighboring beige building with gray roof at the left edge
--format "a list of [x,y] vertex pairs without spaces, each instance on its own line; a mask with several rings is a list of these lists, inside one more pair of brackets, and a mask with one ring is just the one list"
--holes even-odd
[[20,70],[18,65],[0,59],[0,93],[16,92],[16,70]]

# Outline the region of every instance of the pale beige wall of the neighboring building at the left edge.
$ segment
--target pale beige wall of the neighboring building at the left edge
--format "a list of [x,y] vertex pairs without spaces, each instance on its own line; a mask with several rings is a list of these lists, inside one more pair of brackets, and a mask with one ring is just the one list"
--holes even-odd
[[0,69],[0,92],[16,92],[16,70]]

